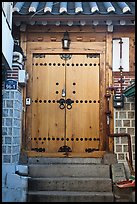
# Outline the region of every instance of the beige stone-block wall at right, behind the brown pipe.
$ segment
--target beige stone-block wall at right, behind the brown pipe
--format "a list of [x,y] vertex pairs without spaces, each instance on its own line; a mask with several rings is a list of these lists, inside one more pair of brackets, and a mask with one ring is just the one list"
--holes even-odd
[[[135,166],[135,97],[124,98],[124,108],[114,109],[114,132],[128,133],[131,136],[132,159]],[[114,151],[118,162],[127,166],[128,140],[125,137],[114,139]]]

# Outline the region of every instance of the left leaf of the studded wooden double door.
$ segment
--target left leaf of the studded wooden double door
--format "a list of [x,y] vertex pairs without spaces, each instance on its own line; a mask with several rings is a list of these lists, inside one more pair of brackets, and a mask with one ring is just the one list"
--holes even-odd
[[65,66],[59,55],[42,56],[33,57],[32,150],[57,152],[64,144],[65,111],[57,100],[64,87]]

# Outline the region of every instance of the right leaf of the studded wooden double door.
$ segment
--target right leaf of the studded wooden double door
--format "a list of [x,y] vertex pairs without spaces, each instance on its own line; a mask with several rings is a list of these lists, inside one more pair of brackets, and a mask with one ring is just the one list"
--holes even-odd
[[[67,145],[72,152],[99,148],[99,55],[73,55],[66,66],[67,98],[74,100],[66,109]],[[73,142],[72,142],[73,140]],[[70,142],[69,142],[70,141]]]

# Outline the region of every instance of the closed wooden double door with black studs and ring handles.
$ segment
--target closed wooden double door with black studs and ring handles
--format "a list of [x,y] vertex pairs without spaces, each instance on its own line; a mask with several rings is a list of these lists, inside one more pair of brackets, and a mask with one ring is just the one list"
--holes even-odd
[[99,54],[33,54],[31,94],[31,151],[99,150]]

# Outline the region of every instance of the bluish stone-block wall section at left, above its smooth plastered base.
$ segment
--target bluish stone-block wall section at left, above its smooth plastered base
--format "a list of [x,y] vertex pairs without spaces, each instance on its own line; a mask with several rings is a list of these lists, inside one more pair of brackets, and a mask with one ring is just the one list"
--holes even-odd
[[18,163],[21,144],[22,96],[4,90],[2,105],[2,162]]

